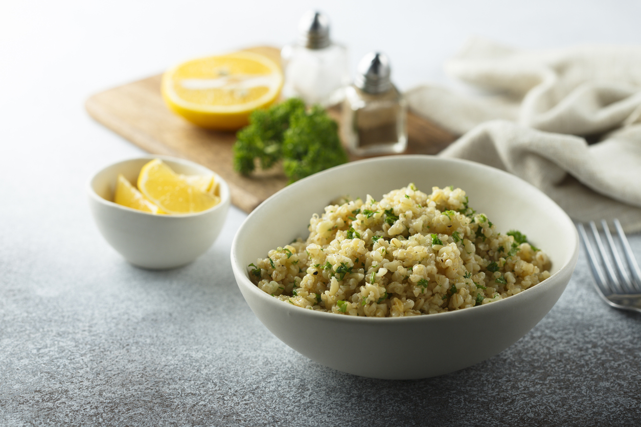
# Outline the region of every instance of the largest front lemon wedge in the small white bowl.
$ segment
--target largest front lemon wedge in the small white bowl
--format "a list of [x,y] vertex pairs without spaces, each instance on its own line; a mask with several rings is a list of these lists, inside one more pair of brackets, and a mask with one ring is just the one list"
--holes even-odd
[[154,159],[142,166],[138,189],[153,204],[170,214],[206,211],[221,198],[193,186],[179,177],[166,163]]

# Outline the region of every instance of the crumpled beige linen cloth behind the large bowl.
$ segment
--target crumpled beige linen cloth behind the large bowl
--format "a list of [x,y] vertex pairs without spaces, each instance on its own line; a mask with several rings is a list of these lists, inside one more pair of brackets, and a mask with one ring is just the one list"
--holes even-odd
[[406,93],[413,112],[464,134],[440,156],[514,173],[576,221],[641,231],[641,47],[517,51],[475,39],[445,70],[482,93]]

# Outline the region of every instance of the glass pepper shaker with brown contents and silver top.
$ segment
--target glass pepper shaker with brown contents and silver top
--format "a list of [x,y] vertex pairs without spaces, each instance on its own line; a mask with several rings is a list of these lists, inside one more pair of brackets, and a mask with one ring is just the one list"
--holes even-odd
[[407,107],[390,80],[390,62],[370,52],[358,64],[354,84],[345,90],[343,129],[356,156],[395,154],[407,148]]

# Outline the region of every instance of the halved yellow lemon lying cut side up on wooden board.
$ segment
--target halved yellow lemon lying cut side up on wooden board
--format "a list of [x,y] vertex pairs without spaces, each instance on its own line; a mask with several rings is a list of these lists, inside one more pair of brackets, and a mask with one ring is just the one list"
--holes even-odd
[[163,74],[161,92],[167,106],[193,124],[231,131],[247,125],[254,109],[276,101],[282,86],[274,61],[236,52],[171,68]]

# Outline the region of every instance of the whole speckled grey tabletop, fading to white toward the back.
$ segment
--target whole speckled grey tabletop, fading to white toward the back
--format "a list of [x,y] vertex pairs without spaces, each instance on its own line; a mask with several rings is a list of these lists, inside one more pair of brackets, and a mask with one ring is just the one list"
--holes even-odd
[[[140,270],[104,242],[85,182],[141,152],[87,117],[88,95],[192,56],[285,44],[313,6],[3,6],[0,426],[641,424],[641,315],[601,302],[583,253],[559,302],[508,350],[437,378],[383,381],[320,366],[256,319],[229,262],[246,218],[235,208],[215,245],[178,270]],[[354,67],[381,49],[401,89],[443,80],[442,62],[473,34],[524,47],[641,42],[641,6],[631,1],[588,1],[581,10],[570,0],[400,1],[392,9],[329,1],[324,10]],[[372,33],[365,24],[381,24],[381,10],[389,30]],[[419,52],[408,39],[425,44]],[[631,240],[641,258],[641,235]]]

